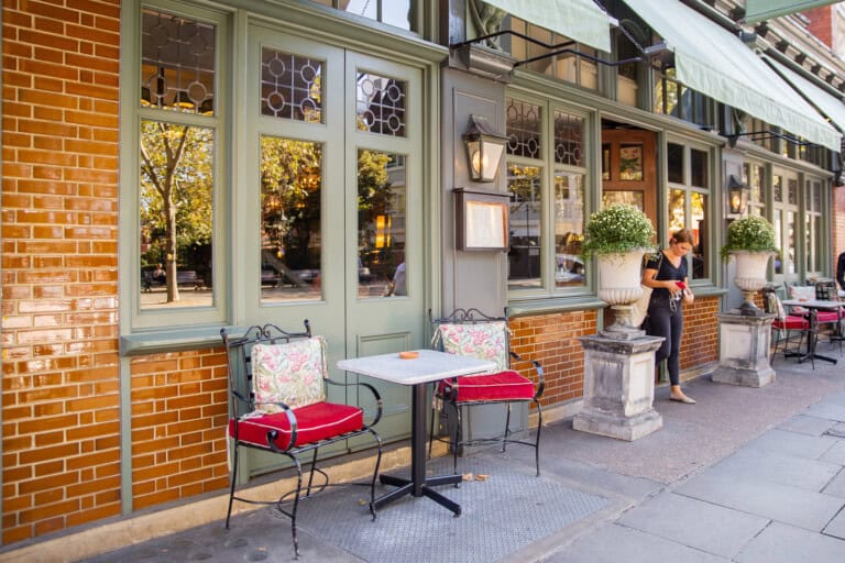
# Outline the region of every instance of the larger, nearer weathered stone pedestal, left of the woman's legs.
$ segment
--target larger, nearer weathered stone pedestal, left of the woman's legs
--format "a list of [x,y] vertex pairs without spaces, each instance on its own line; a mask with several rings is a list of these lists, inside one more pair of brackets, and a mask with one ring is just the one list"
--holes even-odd
[[663,426],[652,408],[655,351],[662,338],[582,336],[584,406],[572,421],[582,432],[633,441]]

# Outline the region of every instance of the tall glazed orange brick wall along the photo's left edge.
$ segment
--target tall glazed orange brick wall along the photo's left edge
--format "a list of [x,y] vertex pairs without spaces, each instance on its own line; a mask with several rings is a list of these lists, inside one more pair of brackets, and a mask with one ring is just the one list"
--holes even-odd
[[119,5],[3,2],[4,544],[120,514]]

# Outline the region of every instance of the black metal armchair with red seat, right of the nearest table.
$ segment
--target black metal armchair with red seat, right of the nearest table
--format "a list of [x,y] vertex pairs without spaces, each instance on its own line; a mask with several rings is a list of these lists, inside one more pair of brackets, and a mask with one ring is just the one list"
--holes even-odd
[[[450,442],[454,472],[458,473],[458,454],[463,446],[502,442],[502,451],[508,443],[529,445],[535,449],[537,475],[540,474],[540,430],[542,429],[542,407],[539,398],[545,386],[542,367],[539,362],[530,361],[537,375],[535,384],[524,375],[511,368],[511,360],[523,358],[511,351],[511,329],[506,317],[487,317],[478,309],[456,309],[451,314],[431,322],[432,347],[452,354],[463,354],[496,362],[495,373],[465,375],[445,379],[435,385],[435,401],[442,407],[449,424],[450,412],[456,413],[454,441],[435,437],[435,416],[432,409],[431,431],[429,433],[428,456],[431,456],[434,440]],[[537,435],[533,442],[512,438],[511,406],[515,402],[534,402],[537,407]],[[464,439],[461,409],[478,405],[501,404],[506,406],[504,431],[492,438]]]

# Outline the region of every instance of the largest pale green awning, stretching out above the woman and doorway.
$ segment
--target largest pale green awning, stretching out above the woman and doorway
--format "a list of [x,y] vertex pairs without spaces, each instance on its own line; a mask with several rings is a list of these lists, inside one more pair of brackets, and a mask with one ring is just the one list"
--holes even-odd
[[677,0],[624,0],[674,52],[677,79],[811,143],[842,135],[736,35]]

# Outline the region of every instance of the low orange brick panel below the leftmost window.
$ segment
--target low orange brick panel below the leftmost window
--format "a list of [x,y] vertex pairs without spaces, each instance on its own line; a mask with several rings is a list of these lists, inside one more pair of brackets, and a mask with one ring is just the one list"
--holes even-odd
[[135,509],[228,486],[227,389],[222,349],[133,360]]

